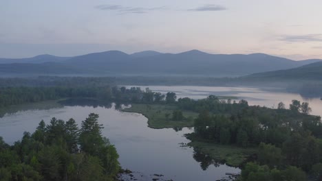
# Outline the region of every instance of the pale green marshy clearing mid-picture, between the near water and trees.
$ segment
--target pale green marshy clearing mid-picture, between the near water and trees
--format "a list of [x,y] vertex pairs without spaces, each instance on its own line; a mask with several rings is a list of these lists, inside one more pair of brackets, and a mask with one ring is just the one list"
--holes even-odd
[[[177,106],[167,104],[131,104],[131,108],[125,108],[124,112],[137,112],[147,117],[150,128],[183,128],[192,127],[193,120],[198,116],[197,112],[182,111],[184,119],[181,121],[171,120],[173,110]],[[169,118],[166,117],[169,114]]]

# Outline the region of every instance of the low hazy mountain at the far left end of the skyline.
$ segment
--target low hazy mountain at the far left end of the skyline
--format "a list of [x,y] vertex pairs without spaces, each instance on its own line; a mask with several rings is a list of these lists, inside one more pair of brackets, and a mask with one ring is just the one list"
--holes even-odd
[[12,63],[44,63],[44,62],[63,62],[69,59],[68,57],[58,57],[52,55],[39,55],[32,58],[0,58],[0,64],[12,64]]

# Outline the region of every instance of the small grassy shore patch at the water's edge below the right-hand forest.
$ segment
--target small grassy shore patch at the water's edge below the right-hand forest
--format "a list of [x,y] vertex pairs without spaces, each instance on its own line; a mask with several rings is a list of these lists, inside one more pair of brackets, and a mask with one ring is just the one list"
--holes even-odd
[[197,149],[198,152],[208,154],[214,160],[221,160],[231,167],[239,167],[249,156],[257,152],[256,148],[241,148],[233,145],[219,145],[215,143],[205,143],[193,141],[189,146]]

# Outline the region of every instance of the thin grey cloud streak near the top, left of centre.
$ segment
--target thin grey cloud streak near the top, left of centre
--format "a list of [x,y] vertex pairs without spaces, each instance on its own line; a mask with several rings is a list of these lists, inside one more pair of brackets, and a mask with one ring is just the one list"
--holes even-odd
[[151,12],[154,10],[167,10],[167,7],[155,7],[155,8],[141,8],[141,7],[127,7],[122,5],[96,5],[94,8],[98,10],[109,10],[116,11],[119,14],[143,14],[147,12]]

